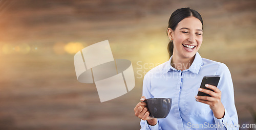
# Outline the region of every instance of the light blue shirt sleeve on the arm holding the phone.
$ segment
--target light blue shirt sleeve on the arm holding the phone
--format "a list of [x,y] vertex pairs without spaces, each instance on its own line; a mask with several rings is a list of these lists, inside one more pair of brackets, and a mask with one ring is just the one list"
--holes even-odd
[[224,117],[217,119],[214,116],[216,124],[220,124],[217,129],[239,129],[238,114],[234,105],[234,90],[231,74],[225,64],[221,64],[216,75],[220,75],[218,88],[221,90],[221,102],[225,108]]

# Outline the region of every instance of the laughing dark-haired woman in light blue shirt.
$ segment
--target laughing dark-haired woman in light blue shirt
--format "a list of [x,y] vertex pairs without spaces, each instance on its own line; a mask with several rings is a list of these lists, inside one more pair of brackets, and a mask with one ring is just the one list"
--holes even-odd
[[[203,41],[203,20],[190,8],[176,10],[169,19],[169,61],[148,71],[143,81],[146,98],[172,98],[172,108],[164,119],[149,116],[145,102],[134,108],[141,129],[239,129],[234,105],[233,84],[227,66],[201,58],[197,52]],[[218,88],[205,85],[203,76],[220,75]],[[198,91],[211,95],[197,96]],[[196,100],[195,100],[196,98]]]

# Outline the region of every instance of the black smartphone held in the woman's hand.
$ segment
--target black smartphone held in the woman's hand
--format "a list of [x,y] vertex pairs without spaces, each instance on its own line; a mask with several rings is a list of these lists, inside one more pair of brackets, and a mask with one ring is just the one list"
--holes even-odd
[[[204,76],[203,77],[203,80],[202,80],[202,83],[200,85],[200,88],[202,89],[208,89],[205,87],[205,84],[208,84],[208,85],[214,85],[214,86],[218,86],[219,84],[219,81],[220,81],[220,76],[219,75],[212,75],[212,76]],[[208,90],[211,90],[211,89],[208,89]],[[213,90],[211,90],[213,91]],[[211,96],[209,94],[206,94],[206,93],[203,93],[203,92],[199,92],[198,91],[198,96]]]

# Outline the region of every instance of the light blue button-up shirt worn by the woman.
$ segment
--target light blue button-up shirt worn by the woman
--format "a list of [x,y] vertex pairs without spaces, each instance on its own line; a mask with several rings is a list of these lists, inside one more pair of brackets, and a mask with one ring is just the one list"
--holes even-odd
[[[234,105],[234,92],[228,67],[220,62],[201,58],[199,53],[186,70],[177,70],[169,61],[148,71],[144,76],[143,95],[146,98],[172,98],[168,116],[158,119],[156,125],[141,120],[141,129],[239,129],[238,115]],[[195,96],[203,76],[220,75],[218,88],[225,108],[222,119],[215,118],[209,105],[197,102]]]

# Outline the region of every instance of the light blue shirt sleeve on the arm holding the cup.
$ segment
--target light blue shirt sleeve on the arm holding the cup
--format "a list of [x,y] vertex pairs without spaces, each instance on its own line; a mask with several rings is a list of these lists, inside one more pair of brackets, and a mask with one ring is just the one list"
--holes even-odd
[[[150,90],[151,90],[150,73],[146,73],[144,76],[144,80],[143,80],[142,95],[145,96],[146,98],[153,98],[153,95],[151,94]],[[140,126],[141,126],[141,130],[146,130],[146,129],[159,130],[159,129],[161,129],[158,121],[157,121],[156,125],[152,126],[150,124],[147,124],[146,120],[141,120]]]

